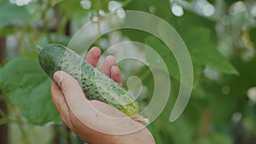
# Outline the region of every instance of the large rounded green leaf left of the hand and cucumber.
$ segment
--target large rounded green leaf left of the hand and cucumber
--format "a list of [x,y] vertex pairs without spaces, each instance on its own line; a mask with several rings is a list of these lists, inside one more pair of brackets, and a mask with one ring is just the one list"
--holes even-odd
[[34,59],[15,58],[1,71],[1,89],[31,124],[61,122],[51,100],[49,86],[50,79]]

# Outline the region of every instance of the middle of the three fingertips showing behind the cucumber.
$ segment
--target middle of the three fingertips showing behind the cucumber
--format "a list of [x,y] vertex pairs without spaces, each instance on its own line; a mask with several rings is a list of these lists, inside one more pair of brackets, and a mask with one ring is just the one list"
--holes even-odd
[[108,55],[103,61],[101,72],[110,77],[111,67],[115,65],[115,58],[112,55]]

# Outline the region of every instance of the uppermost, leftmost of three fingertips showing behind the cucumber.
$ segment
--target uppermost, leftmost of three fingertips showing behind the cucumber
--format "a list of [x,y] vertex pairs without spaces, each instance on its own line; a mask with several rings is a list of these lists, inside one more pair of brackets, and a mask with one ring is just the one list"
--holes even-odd
[[85,57],[85,60],[90,63],[91,66],[96,66],[98,60],[101,57],[101,49],[93,47],[89,50],[88,54]]

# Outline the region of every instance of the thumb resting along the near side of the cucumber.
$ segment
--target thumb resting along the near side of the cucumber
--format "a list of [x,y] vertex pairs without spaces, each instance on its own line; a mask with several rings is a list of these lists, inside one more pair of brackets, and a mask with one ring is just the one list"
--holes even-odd
[[55,72],[54,74],[55,82],[59,85],[64,99],[67,103],[69,110],[69,116],[71,125],[74,129],[77,129],[77,124],[74,123],[75,119],[79,119],[84,125],[96,125],[95,123],[98,119],[100,113],[96,111],[96,108],[84,98],[84,92],[81,89],[78,81],[74,79],[67,72]]

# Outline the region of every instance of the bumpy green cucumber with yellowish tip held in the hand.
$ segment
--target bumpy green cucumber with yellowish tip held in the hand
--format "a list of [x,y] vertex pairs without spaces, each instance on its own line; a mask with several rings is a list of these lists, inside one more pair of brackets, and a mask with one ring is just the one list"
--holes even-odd
[[132,95],[71,49],[50,43],[43,47],[38,59],[49,78],[53,79],[56,71],[67,72],[79,81],[87,99],[105,102],[129,117],[137,117],[139,107],[137,101],[133,101]]

